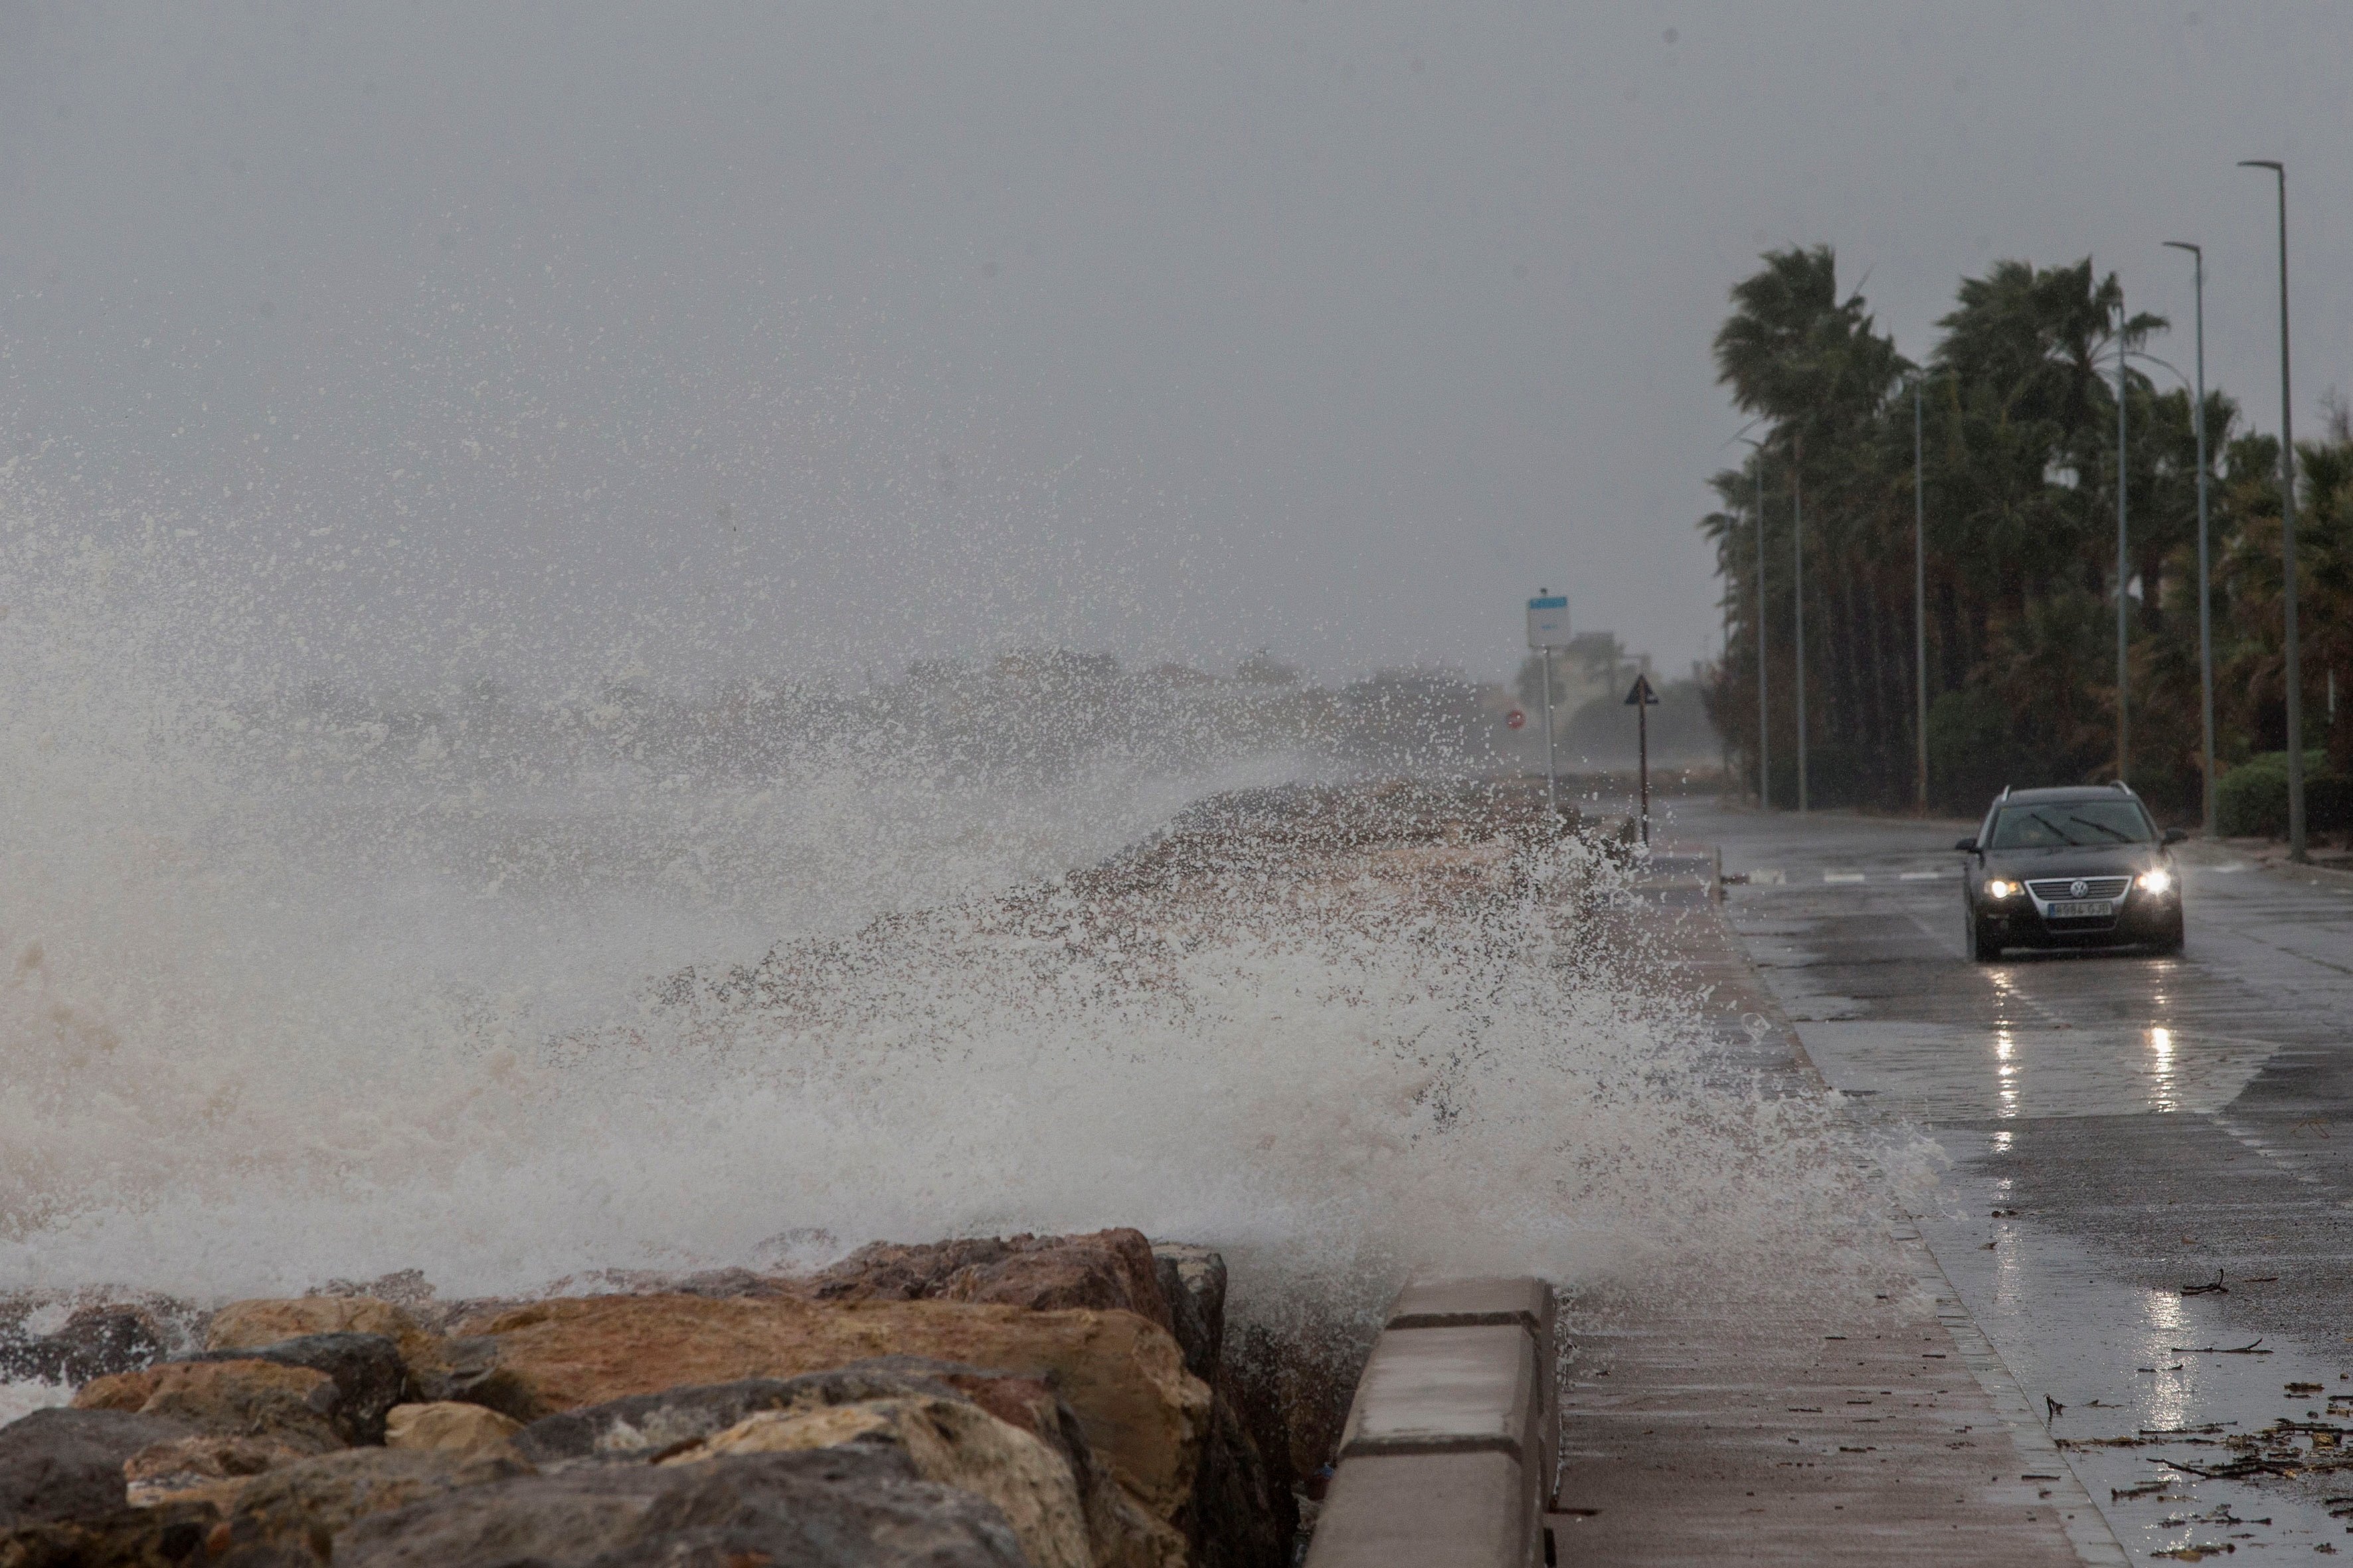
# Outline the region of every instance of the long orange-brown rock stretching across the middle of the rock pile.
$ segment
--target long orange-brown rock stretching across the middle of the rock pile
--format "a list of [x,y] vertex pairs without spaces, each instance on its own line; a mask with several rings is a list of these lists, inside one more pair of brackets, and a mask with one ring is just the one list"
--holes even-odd
[[1047,1373],[1094,1453],[1162,1521],[1193,1495],[1209,1420],[1209,1389],[1184,1371],[1176,1340],[1134,1312],[600,1295],[534,1302],[475,1328],[546,1413],[887,1354]]

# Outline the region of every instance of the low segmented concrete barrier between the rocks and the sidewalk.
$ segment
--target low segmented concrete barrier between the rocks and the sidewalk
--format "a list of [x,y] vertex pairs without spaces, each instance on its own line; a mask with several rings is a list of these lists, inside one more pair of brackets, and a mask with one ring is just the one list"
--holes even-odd
[[1558,1458],[1553,1288],[1407,1286],[1355,1385],[1306,1568],[1537,1568]]

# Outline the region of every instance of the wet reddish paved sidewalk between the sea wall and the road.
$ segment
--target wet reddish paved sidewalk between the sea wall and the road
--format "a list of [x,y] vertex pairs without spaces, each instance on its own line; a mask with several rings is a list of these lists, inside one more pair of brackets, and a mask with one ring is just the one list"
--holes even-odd
[[[1713,987],[1739,1067],[1824,1093],[1704,882],[1628,919]],[[1908,1300],[1569,1302],[1560,1563],[2122,1563],[1934,1255],[1899,1220],[1882,1244]]]

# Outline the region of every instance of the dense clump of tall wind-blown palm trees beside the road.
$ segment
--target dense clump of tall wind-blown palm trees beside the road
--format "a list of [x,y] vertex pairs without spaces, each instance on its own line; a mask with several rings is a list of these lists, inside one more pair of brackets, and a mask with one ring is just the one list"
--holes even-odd
[[[2172,369],[2146,353],[2165,320],[2127,315],[2115,275],[2094,273],[2089,259],[2059,268],[2002,261],[1960,282],[1925,371],[1913,371],[1875,329],[1864,296],[1838,292],[1828,247],[1767,254],[1734,284],[1732,306],[1715,336],[1715,364],[1734,402],[1755,416],[1751,428],[1765,449],[1715,475],[1720,505],[1701,520],[1725,574],[1727,656],[1711,712],[1753,769],[1762,621],[1774,797],[1795,795],[1791,520],[1800,482],[1812,795],[1904,804],[1918,788],[1908,378],[1922,374],[1934,797],[1974,811],[2005,780],[2113,776],[2115,604],[2127,592],[2132,778],[2160,806],[2195,811],[2198,447],[2188,393],[2160,393],[2148,374]],[[2122,574],[2120,355],[2129,496]],[[2209,393],[2205,414],[2217,475],[2247,475],[2214,484],[2217,625],[2228,632],[2219,656],[2240,661],[2242,679],[2261,689],[2261,658],[2240,649],[2238,628],[2275,609],[2264,607],[2252,564],[2233,567],[2235,576],[2221,569],[2233,517],[2252,515],[2261,487],[2242,456],[2221,463],[2235,404]],[[1762,597],[1758,463],[1767,475]],[[2353,473],[2353,456],[2346,468]],[[2327,510],[2329,496],[2353,496],[2329,489],[2334,473],[2325,461],[2311,468],[2315,520],[2339,517]],[[2278,534],[2275,496],[2271,515]],[[2313,529],[2327,536],[2325,524]]]

